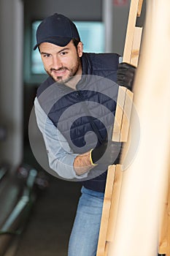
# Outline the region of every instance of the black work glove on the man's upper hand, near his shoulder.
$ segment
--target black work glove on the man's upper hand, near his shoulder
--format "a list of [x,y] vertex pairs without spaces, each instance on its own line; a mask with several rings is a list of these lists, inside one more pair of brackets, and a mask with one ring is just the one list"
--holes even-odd
[[119,86],[124,86],[127,89],[133,89],[134,76],[136,72],[136,67],[131,64],[122,62],[118,64],[117,69],[117,84]]

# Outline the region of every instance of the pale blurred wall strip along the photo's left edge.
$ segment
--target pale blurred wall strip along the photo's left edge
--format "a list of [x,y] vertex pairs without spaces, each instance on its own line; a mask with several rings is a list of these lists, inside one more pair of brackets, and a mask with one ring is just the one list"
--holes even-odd
[[14,167],[23,151],[23,1],[0,1],[0,34],[0,123],[7,127],[0,157]]

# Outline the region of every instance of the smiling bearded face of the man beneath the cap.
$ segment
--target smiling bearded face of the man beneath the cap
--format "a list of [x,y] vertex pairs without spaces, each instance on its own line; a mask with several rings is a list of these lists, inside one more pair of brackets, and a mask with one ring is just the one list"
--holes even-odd
[[67,83],[74,75],[81,75],[82,42],[75,48],[73,42],[61,47],[50,42],[42,42],[39,51],[45,71],[58,83]]

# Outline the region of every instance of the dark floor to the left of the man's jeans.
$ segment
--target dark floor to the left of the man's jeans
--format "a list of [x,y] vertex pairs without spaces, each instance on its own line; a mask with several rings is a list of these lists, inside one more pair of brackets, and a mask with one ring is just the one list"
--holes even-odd
[[[36,170],[43,171],[28,146],[24,161]],[[81,186],[48,174],[47,178],[49,187],[38,193],[23,233],[12,239],[4,256],[67,255]]]

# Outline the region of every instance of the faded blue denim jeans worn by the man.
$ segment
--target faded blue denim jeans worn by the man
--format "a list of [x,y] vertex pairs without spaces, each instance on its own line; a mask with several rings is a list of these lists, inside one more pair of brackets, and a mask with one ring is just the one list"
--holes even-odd
[[82,187],[72,233],[69,256],[96,256],[104,193]]

